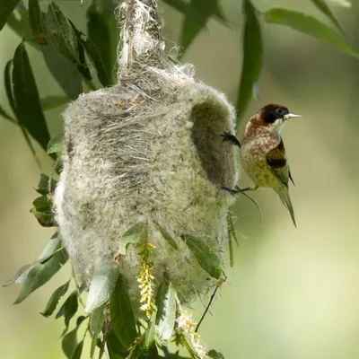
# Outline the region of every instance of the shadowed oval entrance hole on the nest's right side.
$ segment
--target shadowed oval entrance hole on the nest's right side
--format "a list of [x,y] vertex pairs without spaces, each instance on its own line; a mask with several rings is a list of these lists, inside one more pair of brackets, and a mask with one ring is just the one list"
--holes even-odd
[[207,178],[216,186],[232,187],[235,180],[234,153],[223,143],[223,133],[230,124],[229,114],[213,103],[193,107],[192,141],[206,171]]

